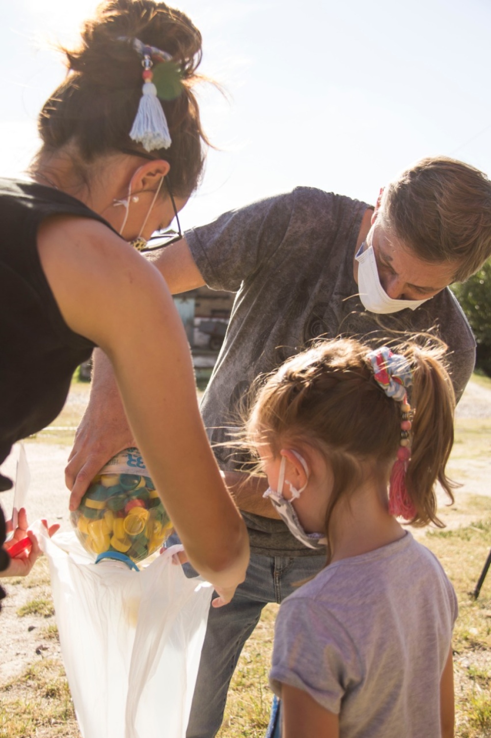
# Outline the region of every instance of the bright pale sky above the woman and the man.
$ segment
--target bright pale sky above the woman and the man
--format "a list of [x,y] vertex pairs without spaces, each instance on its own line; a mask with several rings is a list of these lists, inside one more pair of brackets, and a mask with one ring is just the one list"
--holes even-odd
[[[171,2],[171,4],[174,4]],[[203,34],[201,95],[212,151],[183,227],[297,184],[374,202],[422,156],[491,175],[489,0],[175,0]],[[38,110],[94,0],[4,0],[1,174],[37,148]]]

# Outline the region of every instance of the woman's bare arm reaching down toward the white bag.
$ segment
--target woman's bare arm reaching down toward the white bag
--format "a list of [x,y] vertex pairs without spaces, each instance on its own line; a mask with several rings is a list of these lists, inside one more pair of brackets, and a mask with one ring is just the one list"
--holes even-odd
[[166,283],[96,221],[50,218],[38,248],[66,323],[111,360],[131,430],[189,561],[230,599],[245,576],[247,532],[206,438]]

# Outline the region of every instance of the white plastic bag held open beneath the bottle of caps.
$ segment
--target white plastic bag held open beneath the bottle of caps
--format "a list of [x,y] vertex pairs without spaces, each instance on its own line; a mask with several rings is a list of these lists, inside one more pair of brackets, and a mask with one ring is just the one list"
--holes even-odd
[[181,546],[136,571],[94,564],[74,533],[36,533],[83,738],[184,738],[212,585],[173,564]]

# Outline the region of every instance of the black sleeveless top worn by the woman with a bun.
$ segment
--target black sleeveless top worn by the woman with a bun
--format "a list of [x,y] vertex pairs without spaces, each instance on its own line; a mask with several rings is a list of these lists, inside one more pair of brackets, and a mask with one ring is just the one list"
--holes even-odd
[[56,418],[74,370],[94,348],[66,325],[41,267],[38,227],[55,214],[111,228],[52,187],[0,179],[0,463],[15,441]]

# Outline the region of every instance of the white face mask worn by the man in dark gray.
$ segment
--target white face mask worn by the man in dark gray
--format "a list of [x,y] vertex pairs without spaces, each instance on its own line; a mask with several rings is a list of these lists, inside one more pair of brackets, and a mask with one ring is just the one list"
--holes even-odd
[[365,246],[366,241],[363,241],[355,259],[358,261],[358,292],[366,310],[378,314],[398,313],[406,308],[416,310],[426,300],[431,299],[426,297],[425,300],[393,300],[389,297],[380,284],[373,246],[368,248]]

